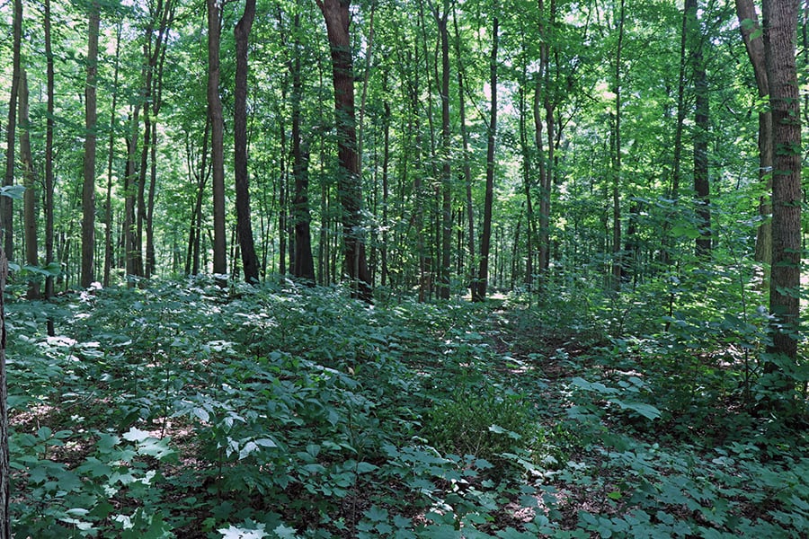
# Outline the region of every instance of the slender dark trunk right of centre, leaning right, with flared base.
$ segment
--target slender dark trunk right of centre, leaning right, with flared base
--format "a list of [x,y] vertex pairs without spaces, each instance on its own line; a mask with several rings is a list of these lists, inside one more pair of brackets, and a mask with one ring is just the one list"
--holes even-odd
[[[494,12],[498,12],[495,2]],[[472,287],[472,301],[484,301],[489,283],[489,251],[492,243],[492,206],[494,200],[494,149],[497,142],[497,49],[500,44],[500,21],[494,15],[492,24],[492,56],[489,58],[489,84],[492,100],[489,103],[489,125],[486,141],[486,194],[484,200],[483,232],[480,236],[480,268]]]

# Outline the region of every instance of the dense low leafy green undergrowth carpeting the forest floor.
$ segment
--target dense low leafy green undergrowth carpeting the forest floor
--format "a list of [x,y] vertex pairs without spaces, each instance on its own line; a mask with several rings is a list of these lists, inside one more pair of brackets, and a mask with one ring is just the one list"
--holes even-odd
[[193,280],[10,302],[15,536],[809,529],[805,433],[737,406],[722,358],[514,303],[345,296]]

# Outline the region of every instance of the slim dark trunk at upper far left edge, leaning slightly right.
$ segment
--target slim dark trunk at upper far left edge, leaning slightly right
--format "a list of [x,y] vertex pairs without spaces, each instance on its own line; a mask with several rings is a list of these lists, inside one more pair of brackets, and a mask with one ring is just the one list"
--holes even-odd
[[[17,126],[17,91],[20,88],[21,49],[22,49],[22,0],[13,0],[13,52],[12,84],[8,99],[8,123],[5,130],[5,176],[4,187],[14,183],[14,142]],[[13,260],[13,202],[11,197],[0,197],[0,234],[5,255]]]

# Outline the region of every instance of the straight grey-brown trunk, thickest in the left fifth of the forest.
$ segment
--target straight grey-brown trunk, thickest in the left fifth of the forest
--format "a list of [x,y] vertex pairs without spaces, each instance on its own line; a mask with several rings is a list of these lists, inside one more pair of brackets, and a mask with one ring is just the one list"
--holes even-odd
[[98,123],[95,84],[98,75],[99,4],[90,4],[87,38],[87,81],[84,85],[84,187],[82,190],[82,281],[83,288],[95,280],[95,141]]

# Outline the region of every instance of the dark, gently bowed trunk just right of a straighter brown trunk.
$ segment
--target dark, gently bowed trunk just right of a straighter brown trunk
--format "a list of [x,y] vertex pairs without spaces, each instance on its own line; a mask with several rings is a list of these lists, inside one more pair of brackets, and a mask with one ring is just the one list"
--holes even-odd
[[244,14],[236,23],[236,92],[234,93],[233,144],[236,172],[236,234],[242,254],[244,280],[250,284],[259,280],[258,258],[253,243],[250,218],[250,177],[247,169],[247,70],[250,30],[255,19],[255,0],[247,0]]

